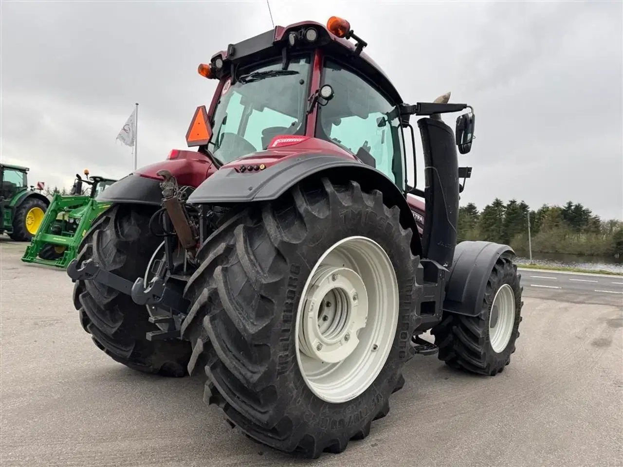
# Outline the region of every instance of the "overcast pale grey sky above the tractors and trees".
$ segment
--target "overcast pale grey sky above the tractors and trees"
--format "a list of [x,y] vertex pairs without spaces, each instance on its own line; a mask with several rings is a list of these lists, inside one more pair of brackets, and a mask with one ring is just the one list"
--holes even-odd
[[[462,204],[581,202],[623,219],[623,7],[598,2],[271,0],[275,24],[345,17],[409,102],[475,108]],[[1,2],[1,158],[30,181],[118,178],[138,114],[138,165],[186,146],[212,54],[272,29],[265,0]],[[454,125],[455,115],[445,120]],[[421,145],[417,146],[421,159]],[[419,164],[421,167],[421,163]],[[422,186],[423,174],[418,176]]]

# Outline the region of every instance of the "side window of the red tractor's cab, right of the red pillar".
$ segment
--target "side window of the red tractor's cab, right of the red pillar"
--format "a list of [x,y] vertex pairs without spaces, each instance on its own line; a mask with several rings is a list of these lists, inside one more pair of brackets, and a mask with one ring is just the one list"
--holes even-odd
[[323,70],[325,84],[334,94],[325,106],[318,106],[316,138],[358,155],[404,189],[402,129],[392,112],[395,105],[350,68],[330,59]]

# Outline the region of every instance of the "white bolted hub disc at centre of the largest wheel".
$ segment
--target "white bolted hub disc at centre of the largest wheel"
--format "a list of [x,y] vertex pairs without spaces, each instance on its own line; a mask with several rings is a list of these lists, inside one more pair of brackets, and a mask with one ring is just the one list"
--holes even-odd
[[359,344],[368,319],[368,294],[350,268],[320,267],[313,275],[303,308],[300,349],[310,358],[337,363]]

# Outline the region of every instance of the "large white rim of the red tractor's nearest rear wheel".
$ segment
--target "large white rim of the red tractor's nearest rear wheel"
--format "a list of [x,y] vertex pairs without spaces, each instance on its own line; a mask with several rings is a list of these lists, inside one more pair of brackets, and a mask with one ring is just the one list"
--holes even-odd
[[298,367],[320,399],[362,394],[383,369],[398,323],[391,260],[366,237],[335,243],[314,265],[298,303]]

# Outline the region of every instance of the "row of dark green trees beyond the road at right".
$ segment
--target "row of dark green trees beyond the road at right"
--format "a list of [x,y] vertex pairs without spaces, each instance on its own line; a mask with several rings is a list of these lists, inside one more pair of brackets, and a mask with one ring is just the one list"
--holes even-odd
[[485,240],[528,252],[528,214],[532,251],[620,257],[623,255],[623,222],[602,220],[580,203],[543,204],[531,210],[523,201],[506,204],[496,198],[478,211],[473,203],[459,208],[458,241]]

